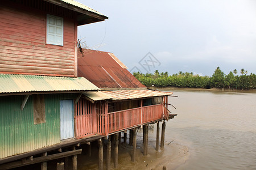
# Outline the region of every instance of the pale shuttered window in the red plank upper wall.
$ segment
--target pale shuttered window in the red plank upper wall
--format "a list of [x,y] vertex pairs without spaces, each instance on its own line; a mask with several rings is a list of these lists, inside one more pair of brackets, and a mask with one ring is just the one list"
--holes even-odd
[[63,46],[63,18],[47,14],[46,43]]

